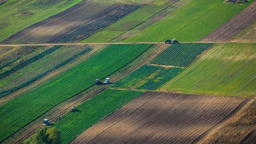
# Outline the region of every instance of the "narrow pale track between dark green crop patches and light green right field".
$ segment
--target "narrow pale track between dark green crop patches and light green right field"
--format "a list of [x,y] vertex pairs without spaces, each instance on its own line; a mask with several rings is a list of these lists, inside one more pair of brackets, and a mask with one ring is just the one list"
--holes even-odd
[[216,46],[215,48],[209,49],[208,51],[206,51],[202,57],[198,58],[198,61],[196,61],[194,64],[192,64],[192,66],[190,66],[187,70],[185,70],[184,72],[182,72],[180,75],[176,76],[176,78],[170,80],[169,82],[165,83],[162,87],[160,87],[160,90],[166,90],[167,86],[171,83],[173,83],[174,81],[176,81],[177,79],[179,79],[181,76],[183,76],[184,74],[188,73],[189,71],[191,71],[194,67],[196,67],[198,64],[201,63],[201,61],[203,61],[207,56],[209,56],[212,52],[215,51],[215,49],[218,49],[221,45]]

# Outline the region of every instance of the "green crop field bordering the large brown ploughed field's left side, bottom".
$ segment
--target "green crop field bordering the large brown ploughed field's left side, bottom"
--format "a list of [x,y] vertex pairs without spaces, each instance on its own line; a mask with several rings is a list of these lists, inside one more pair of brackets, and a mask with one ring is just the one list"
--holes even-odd
[[78,111],[64,115],[63,119],[55,124],[60,131],[61,140],[64,144],[71,142],[84,130],[141,94],[140,91],[107,89],[95,95],[80,104]]

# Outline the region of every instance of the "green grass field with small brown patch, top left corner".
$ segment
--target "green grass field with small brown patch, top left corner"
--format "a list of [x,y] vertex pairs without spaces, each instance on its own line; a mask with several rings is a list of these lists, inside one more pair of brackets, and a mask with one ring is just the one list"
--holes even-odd
[[[0,5],[0,41],[83,0],[10,0]],[[21,16],[21,12],[32,15]]]

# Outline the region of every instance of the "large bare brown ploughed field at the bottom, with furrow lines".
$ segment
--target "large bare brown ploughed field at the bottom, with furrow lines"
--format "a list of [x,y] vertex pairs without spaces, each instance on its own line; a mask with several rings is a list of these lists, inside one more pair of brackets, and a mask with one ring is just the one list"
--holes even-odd
[[196,143],[248,99],[145,92],[71,143]]

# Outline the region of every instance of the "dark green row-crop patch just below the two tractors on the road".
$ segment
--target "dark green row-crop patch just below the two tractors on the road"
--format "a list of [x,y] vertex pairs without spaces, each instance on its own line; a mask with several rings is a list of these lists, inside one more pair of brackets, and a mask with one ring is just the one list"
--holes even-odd
[[186,67],[211,45],[211,43],[173,44],[150,63]]

